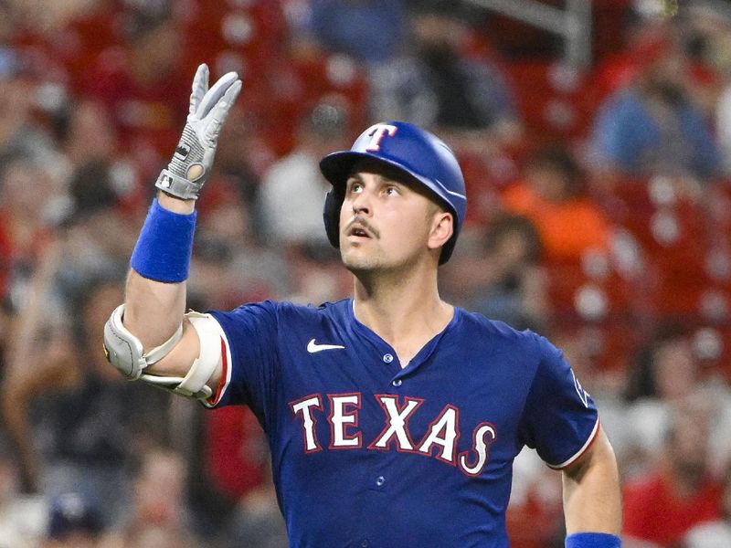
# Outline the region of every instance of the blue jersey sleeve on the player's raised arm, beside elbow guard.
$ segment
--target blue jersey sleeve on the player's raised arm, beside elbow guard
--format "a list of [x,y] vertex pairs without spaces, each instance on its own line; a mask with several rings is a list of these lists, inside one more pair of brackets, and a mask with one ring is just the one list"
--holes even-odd
[[223,363],[212,406],[245,404],[257,413],[277,372],[277,304],[265,300],[210,314],[221,327]]

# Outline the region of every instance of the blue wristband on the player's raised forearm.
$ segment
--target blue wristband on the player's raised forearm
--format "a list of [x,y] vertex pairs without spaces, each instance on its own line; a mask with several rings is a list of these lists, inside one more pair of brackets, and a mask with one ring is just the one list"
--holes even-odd
[[132,251],[132,269],[147,279],[185,281],[193,253],[196,216],[196,211],[189,215],[174,213],[155,199]]

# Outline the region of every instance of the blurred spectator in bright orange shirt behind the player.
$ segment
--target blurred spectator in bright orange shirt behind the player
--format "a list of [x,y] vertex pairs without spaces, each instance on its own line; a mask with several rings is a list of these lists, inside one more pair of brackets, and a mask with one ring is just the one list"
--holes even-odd
[[588,250],[609,248],[609,221],[582,186],[573,156],[564,147],[551,146],[535,153],[523,180],[503,193],[509,212],[533,221],[549,262],[575,262]]

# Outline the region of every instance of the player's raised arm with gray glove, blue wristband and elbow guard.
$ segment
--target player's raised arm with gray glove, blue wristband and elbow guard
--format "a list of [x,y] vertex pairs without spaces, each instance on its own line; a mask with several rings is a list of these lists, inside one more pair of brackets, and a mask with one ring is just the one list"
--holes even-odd
[[183,136],[155,183],[160,192],[132,253],[124,303],[104,329],[109,360],[124,376],[202,400],[221,375],[220,339],[212,318],[185,314],[185,280],[196,199],[240,89],[241,81],[229,72],[209,90],[208,68],[198,68]]

